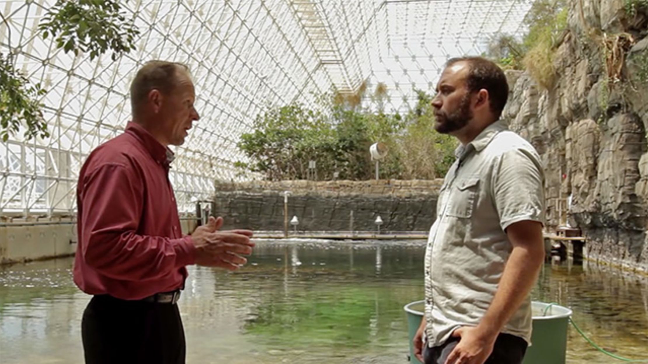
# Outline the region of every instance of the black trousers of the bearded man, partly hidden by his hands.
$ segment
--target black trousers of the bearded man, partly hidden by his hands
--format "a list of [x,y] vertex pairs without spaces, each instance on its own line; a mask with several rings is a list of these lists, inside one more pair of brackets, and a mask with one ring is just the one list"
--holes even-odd
[[[450,337],[448,341],[438,347],[428,348],[426,343],[423,348],[424,364],[443,364],[459,343],[458,337]],[[499,334],[495,340],[491,356],[484,364],[521,364],[526,353],[527,342],[522,337],[511,334]]]

